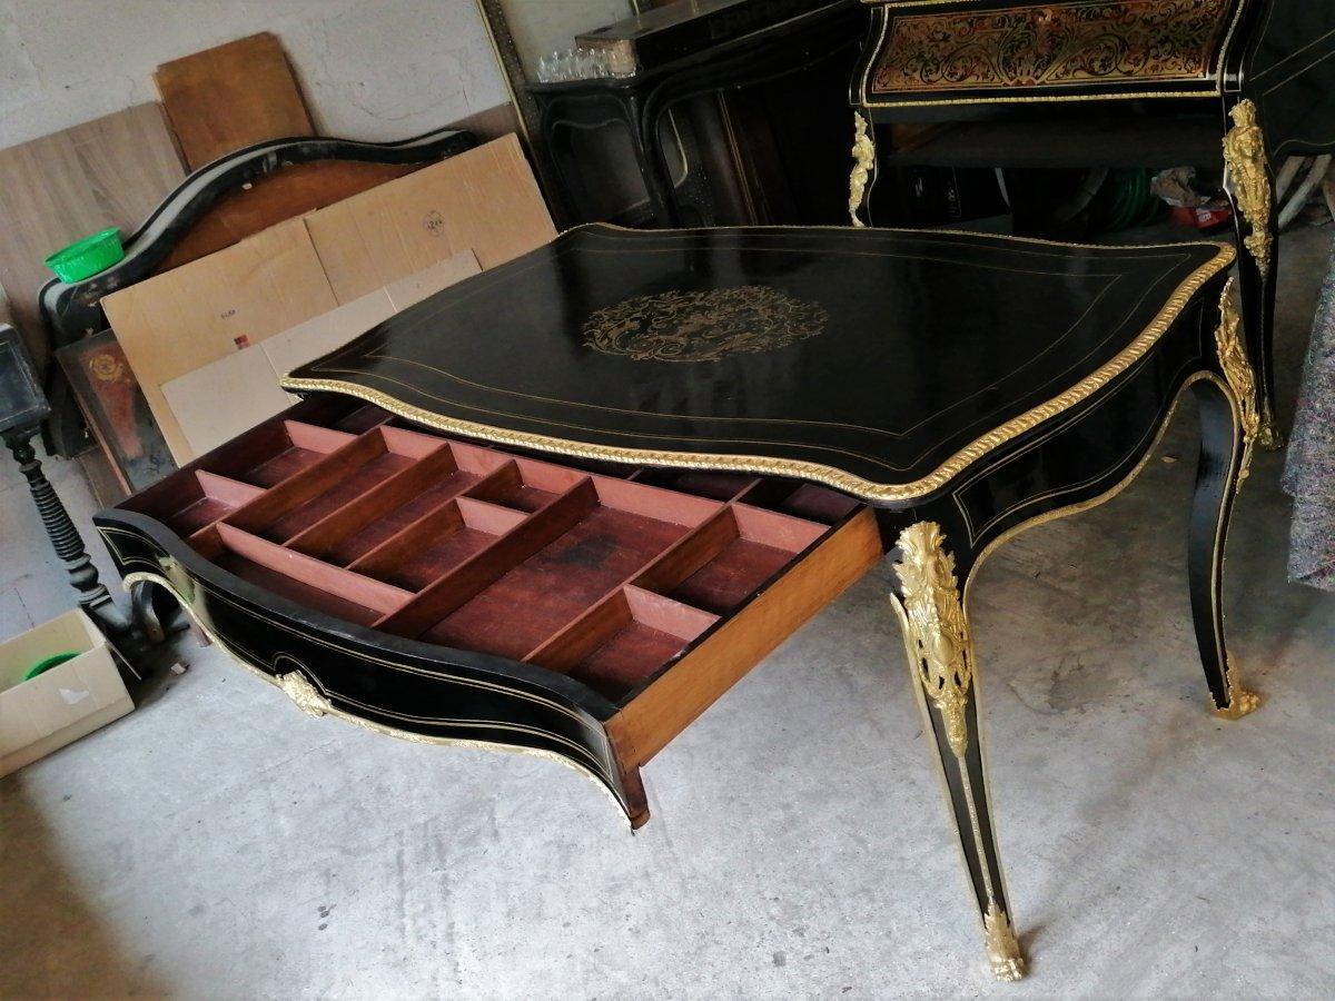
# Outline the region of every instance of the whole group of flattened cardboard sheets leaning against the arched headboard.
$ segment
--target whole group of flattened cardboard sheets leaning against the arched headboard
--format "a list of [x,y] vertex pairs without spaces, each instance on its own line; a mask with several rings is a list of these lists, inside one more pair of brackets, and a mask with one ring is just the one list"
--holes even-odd
[[[146,279],[103,307],[172,456],[187,462],[286,407],[278,376],[554,236],[509,135]],[[331,314],[340,304],[348,311]]]

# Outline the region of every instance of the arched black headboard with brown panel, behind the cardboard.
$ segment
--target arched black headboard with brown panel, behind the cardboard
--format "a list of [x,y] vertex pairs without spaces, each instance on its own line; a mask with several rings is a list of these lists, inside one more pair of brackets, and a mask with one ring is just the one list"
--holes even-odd
[[[474,145],[471,132],[443,128],[396,143],[274,139],[223,156],[186,178],[148,214],[125,238],[120,263],[83,282],[51,279],[43,286],[39,304],[51,350],[104,331],[101,298],[111,292]],[[47,378],[48,446],[71,456],[85,447],[84,424],[69,383],[55,371]],[[150,475],[147,468],[117,463],[117,471],[136,490],[152,482],[139,475]]]

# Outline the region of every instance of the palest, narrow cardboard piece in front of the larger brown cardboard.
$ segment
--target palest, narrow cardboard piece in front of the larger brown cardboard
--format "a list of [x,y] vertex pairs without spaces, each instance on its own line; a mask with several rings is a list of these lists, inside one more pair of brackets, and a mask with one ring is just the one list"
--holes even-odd
[[[163,396],[186,438],[188,458],[203,455],[292,406],[296,398],[283,392],[278,380],[296,366],[342,347],[395,312],[478,271],[471,251],[457,254],[255,347],[163,383]],[[186,458],[176,455],[178,462]]]

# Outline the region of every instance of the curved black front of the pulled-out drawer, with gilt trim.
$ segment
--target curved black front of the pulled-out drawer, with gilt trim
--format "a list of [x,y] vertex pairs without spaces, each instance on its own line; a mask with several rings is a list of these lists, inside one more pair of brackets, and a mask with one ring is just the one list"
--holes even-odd
[[555,758],[629,817],[642,813],[642,790],[621,774],[601,722],[611,709],[565,678],[330,619],[220,573],[147,519],[104,513],[97,529],[127,585],[168,587],[211,641],[302,710],[419,743]]

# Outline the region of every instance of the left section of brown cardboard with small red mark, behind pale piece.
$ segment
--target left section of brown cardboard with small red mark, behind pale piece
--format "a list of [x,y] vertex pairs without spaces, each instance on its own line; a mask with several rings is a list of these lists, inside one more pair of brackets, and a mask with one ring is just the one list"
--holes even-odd
[[163,384],[327,312],[338,300],[306,224],[292,219],[101,304],[172,456],[187,462],[194,451]]

